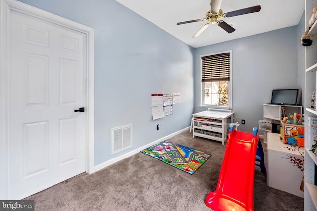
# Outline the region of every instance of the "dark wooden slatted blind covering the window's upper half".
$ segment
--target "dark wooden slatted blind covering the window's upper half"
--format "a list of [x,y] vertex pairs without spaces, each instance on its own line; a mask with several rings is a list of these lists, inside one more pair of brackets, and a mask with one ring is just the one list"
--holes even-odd
[[230,53],[202,57],[202,82],[230,80]]

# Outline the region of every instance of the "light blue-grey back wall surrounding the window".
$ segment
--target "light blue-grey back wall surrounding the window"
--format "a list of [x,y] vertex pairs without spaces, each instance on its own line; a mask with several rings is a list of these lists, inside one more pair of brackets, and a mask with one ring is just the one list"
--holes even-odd
[[[297,26],[293,26],[197,48],[194,93],[199,93],[199,56],[232,50],[234,117],[240,123],[245,119],[241,131],[252,132],[263,119],[263,104],[270,103],[272,89],[298,87],[297,44]],[[194,95],[194,112],[205,109],[199,107],[199,95]]]

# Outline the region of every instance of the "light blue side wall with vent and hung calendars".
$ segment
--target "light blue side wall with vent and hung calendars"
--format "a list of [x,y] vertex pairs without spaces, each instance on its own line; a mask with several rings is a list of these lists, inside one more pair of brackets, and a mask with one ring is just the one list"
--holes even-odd
[[[115,0],[20,1],[95,30],[95,165],[190,125],[193,48]],[[181,103],[153,121],[153,93],[181,93]],[[111,155],[111,128],[128,124],[133,147]]]

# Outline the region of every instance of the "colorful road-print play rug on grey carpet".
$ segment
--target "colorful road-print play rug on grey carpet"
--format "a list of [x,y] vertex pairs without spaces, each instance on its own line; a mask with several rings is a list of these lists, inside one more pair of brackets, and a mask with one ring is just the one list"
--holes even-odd
[[193,174],[211,155],[189,147],[162,141],[141,151],[180,170]]

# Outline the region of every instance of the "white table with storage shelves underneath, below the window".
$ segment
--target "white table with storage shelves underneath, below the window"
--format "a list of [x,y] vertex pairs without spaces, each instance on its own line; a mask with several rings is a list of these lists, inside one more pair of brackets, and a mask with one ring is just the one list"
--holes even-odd
[[194,113],[192,118],[193,137],[221,141],[222,144],[227,140],[227,119],[233,122],[233,112],[221,112],[205,110]]

